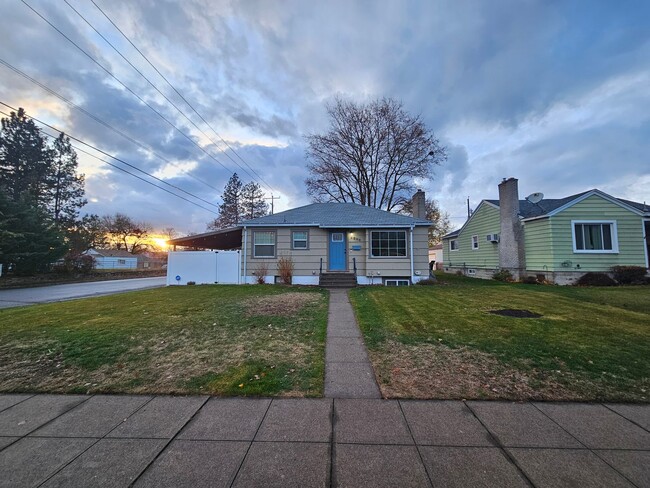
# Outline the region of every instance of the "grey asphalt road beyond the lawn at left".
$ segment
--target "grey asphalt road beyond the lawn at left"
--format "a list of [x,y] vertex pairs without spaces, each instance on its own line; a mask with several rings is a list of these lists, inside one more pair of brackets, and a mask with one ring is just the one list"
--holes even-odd
[[75,298],[111,295],[125,291],[143,290],[165,286],[166,278],[133,278],[128,280],[92,281],[65,285],[39,286],[0,290],[0,308],[20,307],[34,303],[59,302]]

